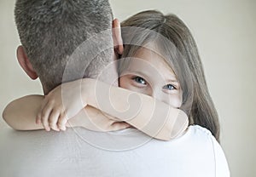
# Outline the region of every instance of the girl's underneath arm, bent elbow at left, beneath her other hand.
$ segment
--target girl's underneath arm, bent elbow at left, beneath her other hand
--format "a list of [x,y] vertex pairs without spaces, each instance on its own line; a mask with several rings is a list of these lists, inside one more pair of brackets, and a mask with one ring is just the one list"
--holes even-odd
[[[16,130],[44,129],[43,124],[36,123],[43,100],[43,95],[27,95],[14,100],[4,109],[3,119]],[[130,127],[128,123],[117,122],[109,118],[111,117],[103,114],[102,111],[86,106],[69,120],[67,127],[84,127],[94,131],[114,131]],[[53,127],[53,129],[59,131],[58,127]]]

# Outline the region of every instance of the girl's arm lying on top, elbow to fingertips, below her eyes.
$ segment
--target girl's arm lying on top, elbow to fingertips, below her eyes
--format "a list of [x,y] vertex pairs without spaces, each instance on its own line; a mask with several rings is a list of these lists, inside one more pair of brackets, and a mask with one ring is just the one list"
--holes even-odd
[[58,120],[63,127],[67,119],[60,115],[73,117],[87,104],[160,140],[172,140],[183,134],[189,123],[183,111],[164,102],[90,78],[63,83],[52,90],[43,101],[38,119],[45,126],[49,126],[49,119]]

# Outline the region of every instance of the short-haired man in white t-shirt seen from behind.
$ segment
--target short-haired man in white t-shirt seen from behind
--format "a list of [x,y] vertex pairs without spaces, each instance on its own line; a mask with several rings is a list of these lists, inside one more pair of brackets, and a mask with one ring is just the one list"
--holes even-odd
[[[111,29],[111,9],[106,0],[18,0],[15,16],[20,41],[23,44],[23,47],[19,47],[17,51],[20,66],[32,79],[39,77],[44,94],[48,94],[63,81],[63,73],[67,66],[78,67],[78,69],[70,70],[64,77],[64,82],[80,78],[82,69],[85,69],[83,77],[97,77],[99,70],[95,67],[104,68],[111,62],[113,49],[102,51],[97,56],[97,60],[84,61],[86,58],[75,57],[78,59],[76,62],[68,63],[69,56],[73,55],[74,49],[80,43],[96,33]],[[111,34],[106,35],[111,36]],[[103,41],[108,42],[108,40]],[[94,47],[96,43],[92,44]],[[120,52],[121,46],[117,50]],[[99,63],[102,60],[103,66]],[[111,77],[100,77],[100,79],[113,83]],[[2,153],[0,176],[180,176],[179,174],[189,174],[189,171],[183,172],[184,158],[189,164],[197,163],[198,153],[193,157],[183,157],[181,154],[188,150],[187,146],[178,143],[186,141],[189,133],[177,139],[173,146],[172,142],[151,140],[135,128],[108,134],[84,128],[68,128],[66,132],[60,133],[9,131],[1,134],[0,137],[4,142],[0,146]],[[193,146],[198,141],[202,140],[189,140],[191,142],[189,146]],[[179,151],[175,151],[177,148]],[[203,151],[203,149],[207,147],[203,146],[197,151]],[[192,151],[191,154],[193,154]],[[211,163],[213,165],[214,162]],[[172,173],[172,165],[174,168],[181,169],[178,174]],[[200,173],[207,170],[204,168],[198,171]]]

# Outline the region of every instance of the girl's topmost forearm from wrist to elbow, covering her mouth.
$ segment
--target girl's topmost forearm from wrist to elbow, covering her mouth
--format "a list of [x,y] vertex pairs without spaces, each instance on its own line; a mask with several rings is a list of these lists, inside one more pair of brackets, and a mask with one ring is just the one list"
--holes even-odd
[[84,103],[130,123],[154,138],[172,140],[188,127],[186,114],[164,102],[85,78],[81,83]]

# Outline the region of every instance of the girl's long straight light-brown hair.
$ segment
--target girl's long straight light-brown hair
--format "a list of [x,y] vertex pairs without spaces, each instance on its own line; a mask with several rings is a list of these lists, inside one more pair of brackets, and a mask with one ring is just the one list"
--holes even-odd
[[[131,30],[131,26],[137,29]],[[148,10],[131,16],[121,23],[121,27],[125,43],[122,58],[135,56],[141,47],[155,43],[158,53],[164,56],[183,89],[181,109],[187,112],[189,124],[209,129],[219,140],[218,113],[207,88],[195,40],[183,21],[174,14]],[[129,60],[120,60],[119,74],[128,65]]]

